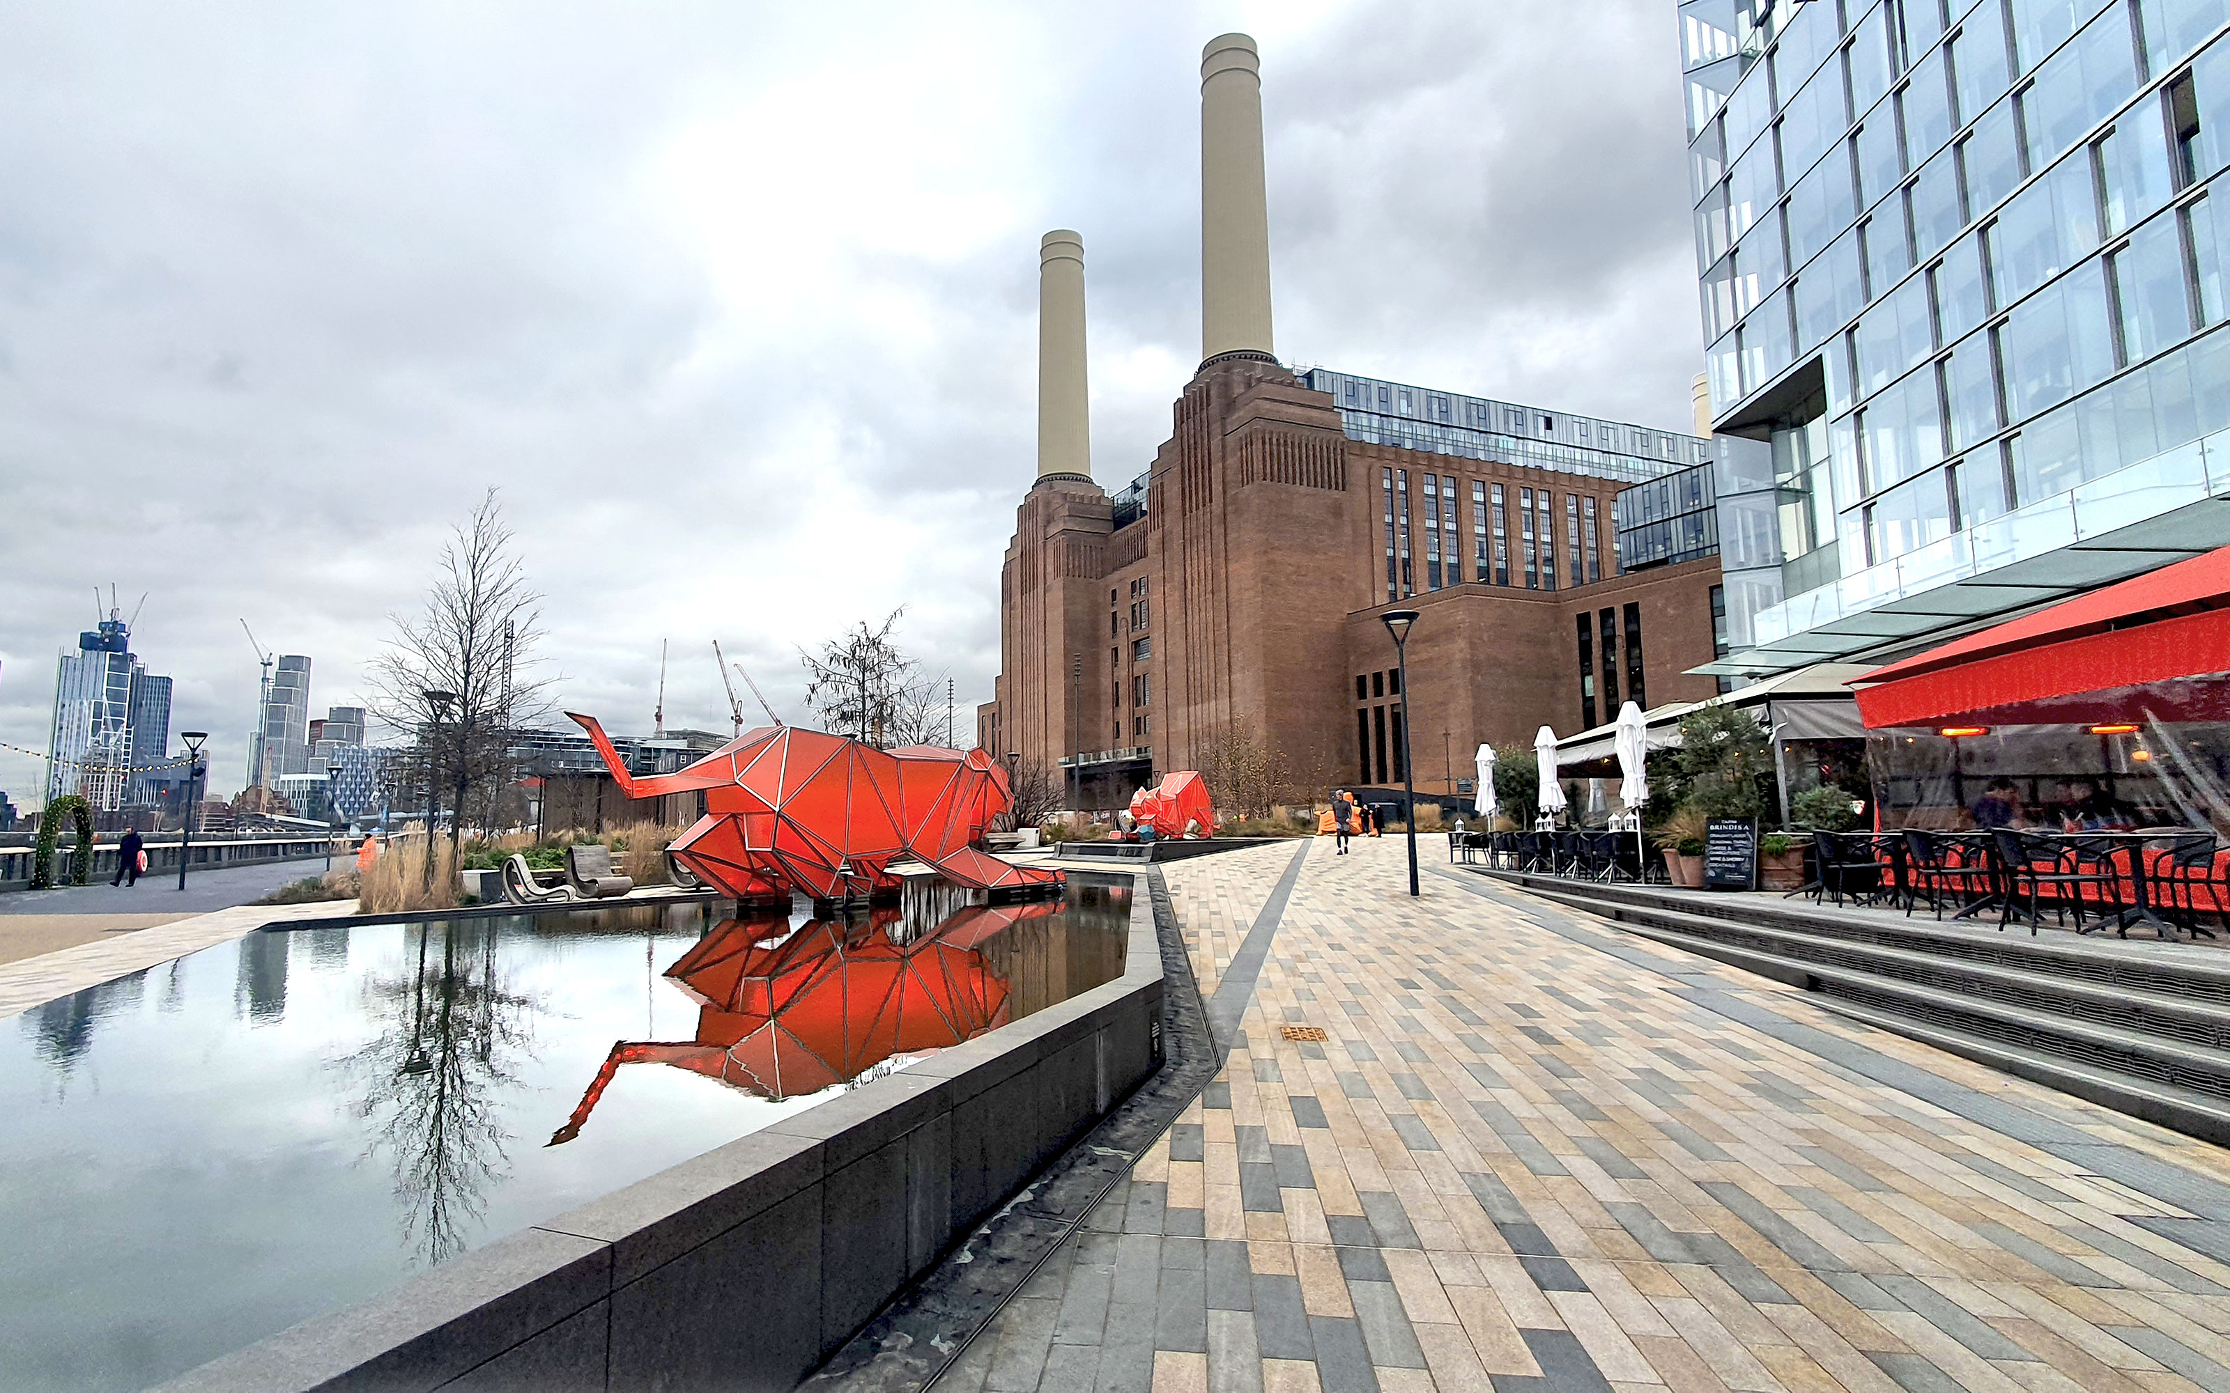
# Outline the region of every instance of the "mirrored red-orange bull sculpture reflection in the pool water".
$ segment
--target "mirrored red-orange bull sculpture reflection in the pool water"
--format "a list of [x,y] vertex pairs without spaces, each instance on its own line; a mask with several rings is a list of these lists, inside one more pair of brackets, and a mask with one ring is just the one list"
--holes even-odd
[[783,1101],[1006,1025],[1012,985],[986,943],[1059,907],[968,905],[930,929],[896,909],[796,932],[787,918],[729,918],[667,967],[698,1001],[696,1039],[613,1045],[549,1143],[580,1134],[624,1063],[669,1063]]

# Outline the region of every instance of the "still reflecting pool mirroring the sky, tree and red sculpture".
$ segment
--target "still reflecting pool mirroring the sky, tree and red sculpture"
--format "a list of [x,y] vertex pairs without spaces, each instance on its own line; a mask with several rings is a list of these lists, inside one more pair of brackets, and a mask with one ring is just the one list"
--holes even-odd
[[[803,907],[798,907],[803,909]],[[1128,889],[263,929],[0,1023],[0,1389],[140,1389],[1122,974]]]

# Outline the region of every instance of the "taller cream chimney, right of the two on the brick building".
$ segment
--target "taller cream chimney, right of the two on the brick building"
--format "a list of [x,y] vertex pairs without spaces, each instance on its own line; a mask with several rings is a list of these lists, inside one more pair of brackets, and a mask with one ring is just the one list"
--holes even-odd
[[1200,357],[1278,361],[1269,334],[1262,60],[1244,33],[1200,56]]

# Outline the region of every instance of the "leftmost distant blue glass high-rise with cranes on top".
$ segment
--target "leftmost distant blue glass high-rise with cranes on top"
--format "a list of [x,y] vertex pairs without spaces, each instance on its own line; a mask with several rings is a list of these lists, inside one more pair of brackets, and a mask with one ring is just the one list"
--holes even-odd
[[58,664],[47,798],[83,793],[96,811],[116,811],[147,798],[147,767],[167,758],[169,678],[147,673],[129,624],[109,611]]

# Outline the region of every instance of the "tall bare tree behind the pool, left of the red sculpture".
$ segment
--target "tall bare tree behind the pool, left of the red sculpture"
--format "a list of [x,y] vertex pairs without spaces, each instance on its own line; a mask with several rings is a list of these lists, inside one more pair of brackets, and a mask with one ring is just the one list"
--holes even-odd
[[517,778],[517,731],[549,713],[549,678],[533,678],[542,595],[511,546],[491,488],[442,544],[426,611],[388,615],[395,635],[372,660],[372,713],[415,731],[419,758],[450,793],[450,847],[475,791]]

